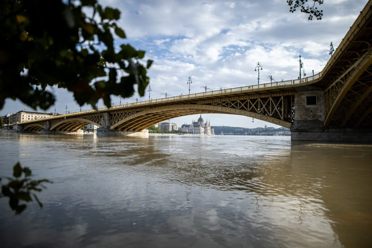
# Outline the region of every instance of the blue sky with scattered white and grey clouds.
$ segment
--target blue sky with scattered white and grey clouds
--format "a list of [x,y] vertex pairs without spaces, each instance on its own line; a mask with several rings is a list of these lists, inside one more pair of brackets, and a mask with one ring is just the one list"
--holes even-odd
[[[190,93],[257,84],[257,62],[260,83],[296,79],[299,76],[299,55],[309,76],[320,72],[330,58],[330,42],[334,48],[352,26],[368,0],[324,0],[322,20],[308,20],[308,15],[289,12],[286,0],[100,0],[103,6],[121,11],[119,25],[126,39],[115,39],[115,45],[129,43],[145,50],[145,59],[153,59],[148,70],[150,98],[164,97],[162,93],[178,96]],[[65,113],[80,110],[71,93],[53,88],[56,104],[47,112]],[[209,90],[208,90],[209,91]],[[146,92],[148,93],[148,92]],[[148,94],[138,93],[121,104],[148,100]],[[119,97],[112,97],[119,104]],[[99,107],[104,107],[99,102]],[[19,100],[6,100],[0,115],[31,110]],[[91,109],[84,105],[82,110]],[[199,115],[171,119],[182,125],[198,119]],[[212,126],[255,128],[275,126],[272,123],[246,116],[205,114]],[[278,126],[279,128],[279,126]]]

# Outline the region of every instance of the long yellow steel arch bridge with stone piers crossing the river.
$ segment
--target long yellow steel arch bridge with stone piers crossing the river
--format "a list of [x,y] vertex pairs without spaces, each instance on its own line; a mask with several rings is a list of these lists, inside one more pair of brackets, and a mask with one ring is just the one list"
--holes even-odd
[[97,134],[136,135],[167,119],[223,113],[291,128],[292,140],[372,141],[371,41],[369,0],[316,75],[31,120],[15,129],[74,133],[92,123]]

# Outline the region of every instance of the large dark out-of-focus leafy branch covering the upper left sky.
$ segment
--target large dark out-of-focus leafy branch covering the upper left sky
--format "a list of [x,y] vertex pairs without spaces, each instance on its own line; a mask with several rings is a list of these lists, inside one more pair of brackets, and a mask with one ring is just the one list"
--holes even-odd
[[[145,56],[131,45],[115,46],[120,11],[96,0],[3,0],[0,5],[0,109],[6,98],[48,109],[55,97],[47,86],[66,88],[77,103],[110,95],[143,96],[149,83]],[[115,34],[114,34],[115,33]]]

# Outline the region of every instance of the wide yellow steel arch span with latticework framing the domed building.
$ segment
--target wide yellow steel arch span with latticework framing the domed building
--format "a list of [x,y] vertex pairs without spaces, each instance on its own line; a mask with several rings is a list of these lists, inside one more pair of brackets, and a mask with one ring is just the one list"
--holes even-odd
[[[111,130],[141,131],[164,120],[180,116],[219,113],[242,115],[289,128],[294,116],[294,93],[286,96],[241,96],[203,100],[197,104],[155,106],[141,111],[112,112]],[[293,101],[293,103],[292,103]]]

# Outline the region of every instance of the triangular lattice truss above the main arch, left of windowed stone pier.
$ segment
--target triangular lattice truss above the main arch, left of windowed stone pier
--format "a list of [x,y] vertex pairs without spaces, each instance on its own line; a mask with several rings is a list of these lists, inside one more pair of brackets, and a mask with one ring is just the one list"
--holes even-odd
[[[293,100],[293,103],[292,103]],[[276,96],[246,100],[229,100],[212,103],[215,106],[231,107],[261,115],[271,116],[277,119],[293,122],[294,120],[294,96]]]

